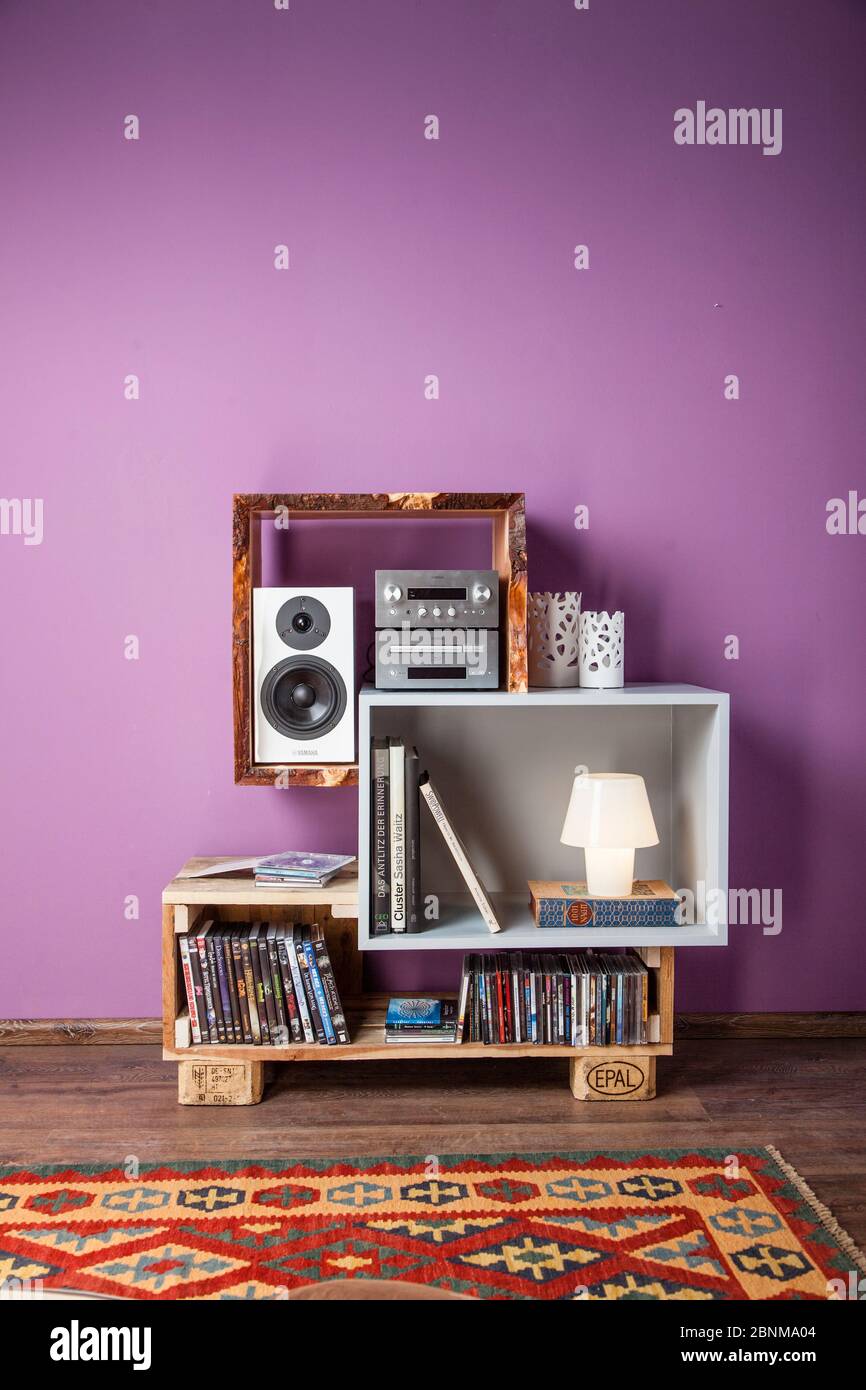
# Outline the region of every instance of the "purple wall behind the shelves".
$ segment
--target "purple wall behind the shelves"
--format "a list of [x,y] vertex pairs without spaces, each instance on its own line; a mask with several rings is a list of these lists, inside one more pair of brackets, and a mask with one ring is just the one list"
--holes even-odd
[[[824,523],[866,491],[865,38],[853,0],[3,6],[0,489],[44,539],[0,535],[0,1015],[156,1013],[189,853],[354,845],[353,791],[232,784],[229,499],[304,488],[524,489],[532,588],[733,692],[731,880],[784,930],[683,952],[680,1006],[863,1006],[866,537]],[[677,146],[702,99],[781,107],[781,154]]]

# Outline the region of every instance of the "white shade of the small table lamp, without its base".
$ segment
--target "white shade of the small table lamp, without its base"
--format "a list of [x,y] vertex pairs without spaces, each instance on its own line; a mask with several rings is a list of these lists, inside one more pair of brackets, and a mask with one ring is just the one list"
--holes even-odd
[[563,845],[584,849],[657,845],[644,778],[637,773],[578,773],[560,838]]

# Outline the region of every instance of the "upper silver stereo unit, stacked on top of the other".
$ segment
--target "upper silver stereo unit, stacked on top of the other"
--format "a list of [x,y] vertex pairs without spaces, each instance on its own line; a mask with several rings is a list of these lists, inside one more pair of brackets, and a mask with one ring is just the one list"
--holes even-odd
[[496,570],[377,570],[375,626],[499,627]]

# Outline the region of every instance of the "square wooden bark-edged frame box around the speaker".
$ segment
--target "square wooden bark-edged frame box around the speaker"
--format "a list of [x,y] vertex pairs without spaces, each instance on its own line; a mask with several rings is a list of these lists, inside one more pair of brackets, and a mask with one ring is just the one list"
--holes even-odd
[[232,695],[235,783],[239,787],[353,787],[357,763],[272,764],[253,760],[253,589],[261,584],[261,523],[418,517],[477,518],[492,524],[492,569],[499,573],[502,687],[527,681],[527,541],[523,492],[243,492],[232,510]]

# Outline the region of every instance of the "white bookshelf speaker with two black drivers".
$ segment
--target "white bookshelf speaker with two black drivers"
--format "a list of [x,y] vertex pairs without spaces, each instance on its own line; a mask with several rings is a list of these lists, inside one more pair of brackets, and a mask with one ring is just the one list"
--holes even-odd
[[354,762],[354,591],[253,589],[257,763]]

